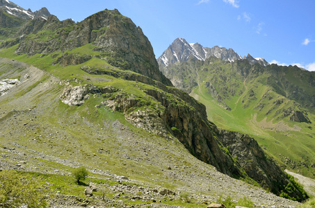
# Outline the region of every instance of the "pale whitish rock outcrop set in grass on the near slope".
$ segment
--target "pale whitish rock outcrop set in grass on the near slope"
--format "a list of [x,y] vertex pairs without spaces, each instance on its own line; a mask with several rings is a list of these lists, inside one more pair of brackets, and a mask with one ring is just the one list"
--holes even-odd
[[88,95],[88,88],[86,86],[69,86],[63,90],[63,94],[60,96],[60,100],[67,105],[82,105]]

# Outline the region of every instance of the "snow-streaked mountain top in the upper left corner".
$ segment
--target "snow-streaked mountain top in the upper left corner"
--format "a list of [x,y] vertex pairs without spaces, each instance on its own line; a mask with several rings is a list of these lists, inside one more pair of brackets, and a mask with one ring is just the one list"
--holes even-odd
[[50,15],[50,12],[45,7],[38,11],[32,12],[31,9],[25,10],[24,8],[17,6],[15,3],[8,0],[0,0],[0,9],[9,15],[14,15],[15,17],[26,20],[34,19],[35,17],[47,19],[47,17]]

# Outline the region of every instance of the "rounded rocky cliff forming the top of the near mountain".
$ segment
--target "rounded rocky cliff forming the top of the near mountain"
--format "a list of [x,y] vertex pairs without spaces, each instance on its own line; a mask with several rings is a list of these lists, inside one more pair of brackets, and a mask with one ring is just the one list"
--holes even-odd
[[[40,35],[37,35],[38,39],[21,38],[21,35],[38,34],[44,30],[50,33],[48,40],[40,39]],[[172,85],[159,71],[152,46],[141,28],[131,19],[122,16],[118,10],[98,12],[78,24],[74,24],[70,19],[59,21],[54,15],[50,15],[47,20],[35,18],[25,24],[16,36],[15,40],[3,42],[1,46],[12,46],[18,42],[16,53],[34,55],[68,51],[92,44],[95,47],[93,50],[106,55],[113,66],[141,73],[165,85]]]

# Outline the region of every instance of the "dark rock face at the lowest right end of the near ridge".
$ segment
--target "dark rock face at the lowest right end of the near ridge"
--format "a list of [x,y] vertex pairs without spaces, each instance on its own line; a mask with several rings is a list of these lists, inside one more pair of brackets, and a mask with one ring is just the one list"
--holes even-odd
[[[264,189],[280,194],[280,184],[286,187],[289,178],[273,159],[267,157],[255,139],[239,132],[220,130],[220,141],[228,147],[229,153],[237,159],[248,176],[252,177]],[[293,189],[295,189],[293,187]],[[302,193],[294,190],[291,197],[302,197]]]

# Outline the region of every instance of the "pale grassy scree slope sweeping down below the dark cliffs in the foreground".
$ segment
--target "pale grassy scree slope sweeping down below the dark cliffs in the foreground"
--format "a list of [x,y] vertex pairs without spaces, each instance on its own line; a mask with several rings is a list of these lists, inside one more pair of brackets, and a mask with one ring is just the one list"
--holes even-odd
[[[234,200],[245,196],[257,207],[298,205],[216,171],[188,153],[175,138],[158,137],[118,119],[94,122],[92,119],[100,116],[96,107],[80,108],[90,119],[78,110],[72,114],[73,108],[67,109],[67,116],[55,94],[61,94],[60,80],[35,67],[23,67],[24,71],[10,71],[6,76],[24,78],[22,85],[10,92],[25,92],[25,96],[0,96],[0,169],[70,175],[71,168],[86,166],[99,177],[128,182],[99,185],[100,190],[111,193],[104,199],[96,194],[68,196],[63,190],[56,193],[58,198],[50,207],[171,207],[175,200],[192,200],[197,207],[207,207],[206,203],[216,202],[219,196]],[[62,113],[55,111],[60,105]],[[104,114],[113,116],[115,112],[105,110]],[[127,175],[128,180],[121,175]],[[161,194],[164,189],[171,192]],[[139,201],[145,205],[138,205]]]

